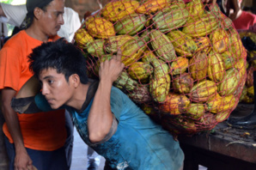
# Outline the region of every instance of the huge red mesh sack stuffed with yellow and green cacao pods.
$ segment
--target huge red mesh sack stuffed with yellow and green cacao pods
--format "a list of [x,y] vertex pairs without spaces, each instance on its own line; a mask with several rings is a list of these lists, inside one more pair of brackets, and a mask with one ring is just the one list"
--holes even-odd
[[75,40],[88,75],[122,50],[114,82],[175,134],[209,131],[229,118],[246,81],[246,51],[232,21],[200,0],[111,1],[89,16]]

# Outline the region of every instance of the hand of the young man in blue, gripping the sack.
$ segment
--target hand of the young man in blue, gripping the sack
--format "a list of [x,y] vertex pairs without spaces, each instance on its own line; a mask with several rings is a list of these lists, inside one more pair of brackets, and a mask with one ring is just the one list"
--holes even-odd
[[125,67],[125,64],[121,62],[122,52],[119,49],[117,55],[114,55],[110,60],[106,60],[101,63],[99,76],[101,80],[107,80],[114,82],[119,77],[119,74]]

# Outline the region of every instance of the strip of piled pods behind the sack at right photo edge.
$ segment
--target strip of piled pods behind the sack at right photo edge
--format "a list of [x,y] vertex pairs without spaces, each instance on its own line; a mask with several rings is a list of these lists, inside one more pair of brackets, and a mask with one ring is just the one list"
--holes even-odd
[[242,103],[253,103],[253,71],[256,70],[256,33],[250,30],[240,30],[239,35],[247,49],[247,81],[239,100]]

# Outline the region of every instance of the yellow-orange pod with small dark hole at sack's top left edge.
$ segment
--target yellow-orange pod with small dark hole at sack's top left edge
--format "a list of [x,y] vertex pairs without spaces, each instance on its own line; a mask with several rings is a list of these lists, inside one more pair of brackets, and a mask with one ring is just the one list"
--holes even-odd
[[101,15],[108,21],[119,21],[127,15],[135,13],[139,3],[135,0],[121,0],[107,3],[101,10]]

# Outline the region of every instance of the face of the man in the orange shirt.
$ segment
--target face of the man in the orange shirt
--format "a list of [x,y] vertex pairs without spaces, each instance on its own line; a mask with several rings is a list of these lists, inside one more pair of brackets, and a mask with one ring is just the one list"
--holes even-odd
[[40,18],[40,27],[42,32],[47,36],[54,36],[57,34],[61,25],[64,24],[64,0],[53,0],[46,7],[46,11],[42,10],[42,17]]

